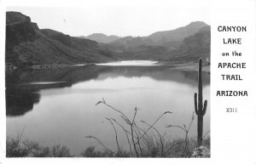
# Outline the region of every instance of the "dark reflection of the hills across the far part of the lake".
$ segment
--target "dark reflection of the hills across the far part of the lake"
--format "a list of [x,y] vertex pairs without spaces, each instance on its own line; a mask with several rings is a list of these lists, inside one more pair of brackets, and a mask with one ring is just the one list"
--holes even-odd
[[[55,70],[16,70],[6,73],[6,115],[22,116],[32,110],[33,105],[39,102],[39,91],[42,89],[71,87],[75,83],[92,79],[101,82],[106,78],[119,76],[130,78],[148,76],[157,81],[185,83],[194,87],[197,85],[198,75],[195,71],[177,71],[163,65],[141,67],[86,65]],[[203,85],[209,85],[209,75],[204,73],[202,77]],[[31,84],[32,82],[49,83]],[[93,89],[95,92],[97,88]]]

